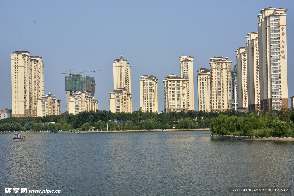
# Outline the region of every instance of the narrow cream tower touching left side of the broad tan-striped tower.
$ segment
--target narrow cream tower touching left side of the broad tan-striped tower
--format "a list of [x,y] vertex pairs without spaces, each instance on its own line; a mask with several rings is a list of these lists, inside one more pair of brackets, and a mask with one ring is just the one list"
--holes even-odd
[[212,109],[210,70],[201,67],[197,69],[197,72],[198,110],[210,112]]

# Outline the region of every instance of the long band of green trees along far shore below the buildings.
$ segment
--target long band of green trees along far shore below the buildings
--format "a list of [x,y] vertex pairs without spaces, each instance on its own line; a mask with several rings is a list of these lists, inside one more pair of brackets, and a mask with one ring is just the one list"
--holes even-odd
[[[211,123],[215,123],[220,116],[245,119],[250,113],[258,116],[271,116],[279,118],[282,121],[290,122],[294,120],[294,113],[289,109],[282,111],[253,111],[249,113],[228,110],[225,112],[205,112],[190,110],[188,113],[145,113],[141,108],[133,113],[112,113],[107,110],[84,111],[77,115],[51,115],[45,117],[22,117],[22,118],[4,118],[0,120],[0,131],[9,130],[153,130],[153,129],[171,129],[175,128],[209,128]],[[46,122],[55,122],[55,124],[42,124]],[[220,127],[222,128],[222,127]],[[228,127],[223,127],[230,130]],[[212,128],[214,129],[214,128]]]

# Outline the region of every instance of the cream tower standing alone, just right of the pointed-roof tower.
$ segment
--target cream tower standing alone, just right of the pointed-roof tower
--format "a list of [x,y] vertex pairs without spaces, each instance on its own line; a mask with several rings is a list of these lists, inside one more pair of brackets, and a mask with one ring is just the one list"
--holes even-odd
[[140,107],[144,112],[158,112],[158,79],[152,75],[140,77]]

